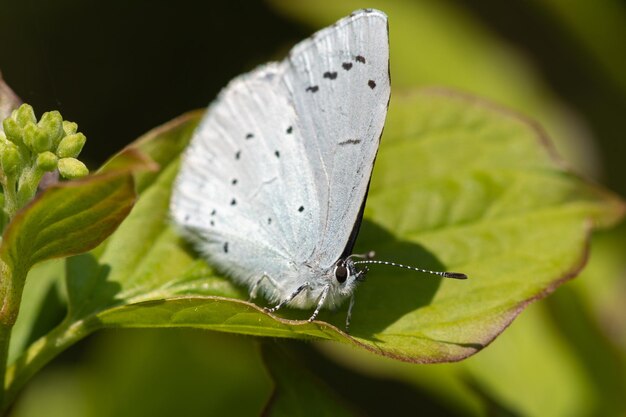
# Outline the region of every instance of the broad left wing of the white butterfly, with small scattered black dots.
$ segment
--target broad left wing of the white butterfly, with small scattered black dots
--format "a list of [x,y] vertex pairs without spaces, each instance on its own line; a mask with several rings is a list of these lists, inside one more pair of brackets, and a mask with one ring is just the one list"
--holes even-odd
[[175,222],[244,283],[264,273],[279,281],[309,252],[302,237],[319,234],[313,173],[282,74],[269,64],[222,91],[185,152],[172,196]]

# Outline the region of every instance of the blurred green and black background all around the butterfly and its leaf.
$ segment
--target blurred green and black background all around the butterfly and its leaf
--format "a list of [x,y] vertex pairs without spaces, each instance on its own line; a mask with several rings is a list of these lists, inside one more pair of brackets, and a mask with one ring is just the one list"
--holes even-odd
[[[38,113],[58,109],[79,123],[83,158],[96,168],[361,7],[389,15],[392,100],[404,88],[443,85],[504,104],[539,122],[575,171],[626,195],[619,0],[0,0],[0,70]],[[276,385],[286,394],[274,397],[270,415],[297,398],[300,415],[319,415],[307,408],[315,399],[357,415],[626,416],[625,253],[624,223],[597,233],[579,278],[461,363],[410,365],[331,344],[201,331],[110,330],[47,366],[12,415],[259,415]],[[289,388],[286,372],[308,385]]]

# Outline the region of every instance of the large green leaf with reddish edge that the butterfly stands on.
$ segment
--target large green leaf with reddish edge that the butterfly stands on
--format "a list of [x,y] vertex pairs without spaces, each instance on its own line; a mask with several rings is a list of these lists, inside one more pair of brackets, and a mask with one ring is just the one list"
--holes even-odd
[[412,362],[459,360],[576,275],[592,225],[610,225],[623,212],[616,197],[563,168],[518,116],[449,92],[396,94],[358,247],[470,279],[373,266],[347,335],[340,330],[345,306],[313,323],[302,321],[308,311],[269,315],[177,236],[168,217],[171,186],[199,116],[183,116],[131,147],[160,170],[138,178],[141,197],[110,239],[69,260],[68,318],[26,352],[31,362],[11,372],[28,374],[102,327],[337,340]]

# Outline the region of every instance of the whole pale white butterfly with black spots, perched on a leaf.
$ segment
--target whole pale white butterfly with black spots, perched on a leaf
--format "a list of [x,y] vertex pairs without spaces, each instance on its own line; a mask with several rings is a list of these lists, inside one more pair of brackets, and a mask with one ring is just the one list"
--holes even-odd
[[313,321],[350,299],[348,328],[366,265],[397,265],[352,254],[390,92],[387,16],[373,9],[235,78],[183,155],[177,228],[270,312],[314,308]]

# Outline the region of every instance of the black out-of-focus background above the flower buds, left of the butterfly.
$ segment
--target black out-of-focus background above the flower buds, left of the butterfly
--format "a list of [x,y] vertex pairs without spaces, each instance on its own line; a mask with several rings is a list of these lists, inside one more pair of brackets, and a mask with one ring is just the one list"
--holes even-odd
[[307,33],[259,1],[3,3],[6,82],[77,122],[91,167]]

